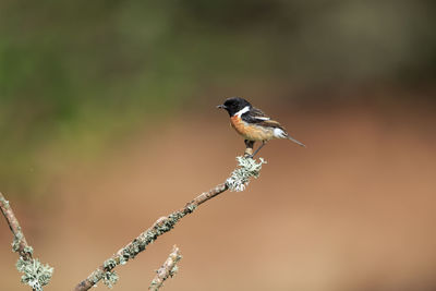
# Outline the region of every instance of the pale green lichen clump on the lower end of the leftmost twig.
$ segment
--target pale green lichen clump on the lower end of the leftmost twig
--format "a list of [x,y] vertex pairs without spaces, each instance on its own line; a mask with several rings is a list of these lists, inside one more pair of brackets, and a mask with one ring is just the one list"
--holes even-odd
[[21,281],[37,291],[43,291],[43,286],[50,282],[53,274],[52,267],[43,265],[37,258],[25,260],[23,257],[20,257],[16,262],[16,269],[24,272]]

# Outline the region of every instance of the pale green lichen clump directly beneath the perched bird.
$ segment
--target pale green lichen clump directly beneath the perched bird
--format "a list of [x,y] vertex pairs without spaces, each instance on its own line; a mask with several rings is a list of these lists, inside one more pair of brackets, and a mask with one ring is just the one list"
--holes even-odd
[[251,178],[258,178],[262,169],[262,165],[266,163],[263,158],[259,158],[259,162],[249,157],[237,157],[238,166],[231,175],[226,180],[226,184],[230,191],[241,192],[245,190],[245,186],[250,183]]

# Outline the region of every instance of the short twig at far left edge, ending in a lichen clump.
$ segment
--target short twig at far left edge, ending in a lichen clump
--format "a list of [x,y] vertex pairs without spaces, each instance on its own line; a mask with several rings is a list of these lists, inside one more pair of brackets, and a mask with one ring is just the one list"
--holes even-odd
[[48,265],[43,265],[37,258],[33,258],[33,247],[27,244],[19,220],[1,192],[0,208],[14,235],[12,251],[20,254],[20,258],[16,262],[16,268],[19,271],[24,272],[21,277],[21,281],[32,287],[33,290],[43,290],[43,286],[49,283],[53,268]]

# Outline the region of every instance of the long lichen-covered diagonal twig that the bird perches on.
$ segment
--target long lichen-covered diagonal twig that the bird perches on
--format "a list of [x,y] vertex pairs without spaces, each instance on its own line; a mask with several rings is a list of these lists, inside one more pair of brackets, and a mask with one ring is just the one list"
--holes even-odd
[[187,203],[181,209],[173,211],[169,216],[159,218],[149,229],[141,233],[136,239],[129,243],[123,248],[119,250],[109,259],[105,260],[101,266],[94,270],[85,280],[80,282],[74,291],[85,291],[95,286],[101,279],[105,284],[112,287],[118,281],[118,275],[112,271],[118,265],[124,265],[129,259],[134,258],[137,254],[143,252],[145,247],[153,243],[158,237],[170,231],[175,223],[189,214],[192,214],[199,205],[216,197],[227,190],[243,191],[249,183],[250,178],[257,178],[262,165],[265,163],[263,159],[256,162],[252,158],[237,157],[239,167],[225,183],[204,192],[193,201]]

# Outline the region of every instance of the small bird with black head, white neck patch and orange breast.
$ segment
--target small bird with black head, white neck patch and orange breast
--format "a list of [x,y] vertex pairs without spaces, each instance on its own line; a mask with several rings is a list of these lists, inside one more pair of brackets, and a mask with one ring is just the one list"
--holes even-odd
[[[290,140],[302,147],[306,147],[303,143],[290,136],[278,121],[269,118],[261,109],[253,107],[244,98],[230,97],[222,105],[218,105],[217,108],[225,109],[229,113],[231,126],[244,137],[245,156],[250,158],[253,158],[268,141],[274,138]],[[254,154],[251,154],[255,142],[262,142],[262,145]]]

